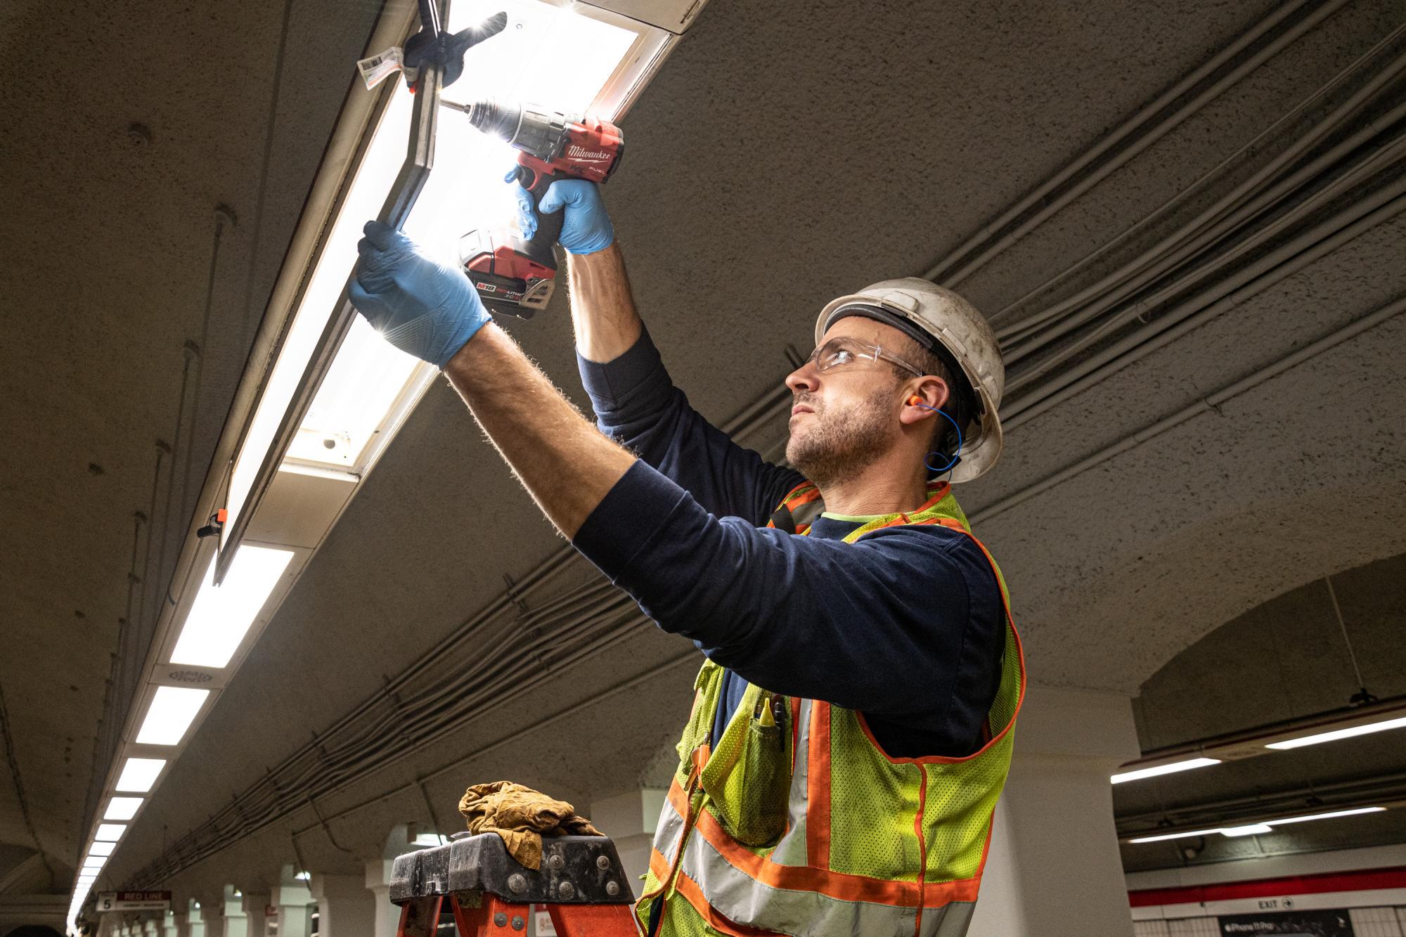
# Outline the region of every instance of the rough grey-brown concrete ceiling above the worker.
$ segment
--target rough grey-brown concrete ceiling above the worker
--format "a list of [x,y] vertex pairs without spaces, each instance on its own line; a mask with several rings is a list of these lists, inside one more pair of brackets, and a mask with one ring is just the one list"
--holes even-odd
[[[145,656],[377,13],[373,3],[139,0],[79,3],[60,23],[37,3],[0,11],[13,48],[59,63],[21,73],[11,58],[0,98],[17,128],[0,144],[15,193],[0,264],[10,324],[0,407],[18,440],[0,454],[10,533],[0,681],[14,765],[0,772],[0,844],[41,850],[60,891],[93,779],[107,770],[124,680]],[[1386,72],[1403,24],[1400,0],[1173,0],[1135,11],[1111,0],[835,0],[786,20],[768,4],[711,0],[626,121],[630,155],[607,200],[675,381],[725,419],[776,387],[787,346],[808,348],[823,302],[863,283],[936,266],[1010,331],[1137,253],[1185,246],[1181,227],[1306,134],[1324,113],[1317,103],[1337,106],[1354,82]],[[1236,51],[1256,30],[1258,44]],[[1282,48],[1264,49],[1281,35]],[[1222,52],[1216,75],[1135,120]],[[1360,62],[1369,53],[1381,62]],[[1393,89],[1388,80],[1378,93],[1389,100]],[[960,494],[1011,582],[1033,680],[1136,692],[1267,599],[1406,550],[1400,317],[1216,395],[1406,294],[1400,198],[1381,198],[1385,208],[1357,228],[1341,219],[1391,196],[1400,166],[1386,148],[1350,176],[1360,187],[1188,248],[1175,295],[1133,308],[1146,322],[1077,332],[1087,343],[1047,374],[1033,366],[1057,345],[1012,367],[1021,415],[1007,459]],[[1014,221],[1002,217],[1043,191]],[[1308,238],[1317,255],[1275,253],[1275,243],[1234,253],[1277,218],[1286,239],[1317,228],[1341,236]],[[987,225],[1008,236],[983,241]],[[981,249],[965,253],[969,245]],[[1230,287],[1243,288],[1159,348],[1137,332]],[[565,310],[510,328],[579,398]],[[1049,397],[1125,338],[1136,360]],[[1053,402],[1036,411],[1040,401]],[[1201,409],[1146,432],[1187,407]],[[769,446],[782,432],[763,421],[748,442]],[[1085,459],[1087,470],[1060,476]],[[316,785],[315,740],[394,716],[385,680],[474,623],[505,575],[520,581],[558,549],[454,395],[433,388],[105,881],[208,893],[267,881],[284,862],[354,871],[391,823],[447,827],[468,782],[512,777],[589,802],[657,774],[693,661],[686,644],[640,626],[592,657],[547,644],[513,664],[523,692],[510,703],[422,744],[388,737],[354,781],[325,793]],[[572,566],[527,599],[529,613],[592,581]],[[491,639],[509,635],[517,613],[474,625],[436,656],[434,678],[486,673],[505,653]],[[1194,696],[1185,705],[1211,708]],[[263,803],[260,784],[281,765],[318,791],[315,803],[284,796],[263,826],[239,820],[229,805]]]

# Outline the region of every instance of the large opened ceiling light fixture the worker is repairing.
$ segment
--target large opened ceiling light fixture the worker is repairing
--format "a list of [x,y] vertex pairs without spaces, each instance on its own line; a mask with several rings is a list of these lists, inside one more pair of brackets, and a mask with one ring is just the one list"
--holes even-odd
[[[699,7],[690,4],[685,17],[673,17],[673,25],[692,21]],[[359,480],[437,374],[389,346],[360,317],[346,317],[346,284],[366,219],[384,215],[394,200],[402,214],[392,222],[404,221],[405,234],[426,250],[457,260],[465,231],[513,217],[502,176],[516,158],[505,142],[468,124],[464,104],[498,97],[619,120],[678,38],[647,23],[651,15],[631,18],[589,3],[543,0],[456,1],[446,28],[477,25],[498,10],[508,13],[510,28],[468,51],[464,69],[472,82],[460,82],[443,96],[412,96],[404,82],[395,82],[368,127],[370,139],[336,214],[312,257],[299,263],[302,287],[292,294],[283,343],[264,371],[267,380],[233,459],[217,580],[226,575],[231,547],[240,549],[249,515],[278,471],[323,468]],[[665,15],[662,8],[659,15]],[[433,108],[430,98],[437,103]],[[433,156],[451,172],[426,167],[419,179],[408,174],[412,125],[434,128],[433,155],[425,158]],[[422,156],[412,153],[416,162]],[[396,189],[408,181],[411,189]]]

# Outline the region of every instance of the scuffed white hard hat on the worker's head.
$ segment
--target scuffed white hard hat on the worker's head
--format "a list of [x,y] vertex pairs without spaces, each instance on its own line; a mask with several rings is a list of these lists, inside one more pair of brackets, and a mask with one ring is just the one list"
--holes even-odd
[[956,359],[976,394],[976,432],[962,443],[952,481],[972,481],[1001,457],[1004,438],[995,409],[1005,388],[1005,363],[995,332],[977,308],[952,290],[921,277],[883,280],[830,302],[815,321],[815,345],[837,321],[862,315],[891,325],[927,348],[936,342]]

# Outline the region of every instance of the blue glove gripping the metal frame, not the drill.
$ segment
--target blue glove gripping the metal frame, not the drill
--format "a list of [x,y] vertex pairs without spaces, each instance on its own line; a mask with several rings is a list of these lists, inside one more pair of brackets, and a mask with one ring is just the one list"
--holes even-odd
[[352,305],[391,345],[444,367],[494,318],[478,290],[391,225],[368,221],[363,231]]

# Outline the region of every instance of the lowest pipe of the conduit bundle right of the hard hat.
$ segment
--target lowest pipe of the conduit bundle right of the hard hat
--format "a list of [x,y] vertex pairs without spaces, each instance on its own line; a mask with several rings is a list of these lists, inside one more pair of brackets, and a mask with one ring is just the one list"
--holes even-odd
[[[1371,198],[1354,204],[1350,212],[1344,214],[1355,214],[1368,208],[1371,211],[1358,217],[1351,224],[1339,227],[1341,224],[1340,218],[1333,218],[1282,245],[1256,263],[1249,264],[1226,283],[1218,284],[1213,290],[1215,294],[1222,297],[1218,301],[1202,305],[1204,298],[1198,298],[1198,301],[1182,304],[1166,317],[1156,319],[1147,329],[1139,331],[1071,367],[1064,374],[1060,374],[1056,381],[1052,381],[1053,387],[1042,387],[1039,388],[1039,394],[1032,394],[1025,400],[1017,401],[1012,405],[1015,412],[1002,421],[1005,428],[1014,429],[1070,397],[1088,390],[1109,374],[1142,360],[1152,352],[1181,338],[1192,328],[1220,315],[1246,298],[1336,250],[1364,231],[1400,214],[1400,211],[1406,210],[1406,198],[1402,198],[1403,191],[1406,191],[1406,177],[1395,180]],[[1334,228],[1336,231],[1333,231]],[[1333,234],[1324,238],[1323,234],[1326,231],[1333,231]],[[1147,332],[1153,333],[1150,339],[1143,338]]]

